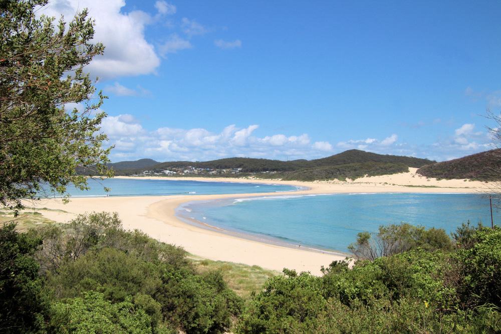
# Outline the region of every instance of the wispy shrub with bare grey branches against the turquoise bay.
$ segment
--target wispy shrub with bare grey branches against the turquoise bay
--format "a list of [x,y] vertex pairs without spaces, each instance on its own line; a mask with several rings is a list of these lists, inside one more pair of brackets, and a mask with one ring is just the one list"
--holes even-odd
[[400,223],[379,226],[374,239],[369,232],[360,232],[357,241],[348,246],[357,258],[371,261],[380,256],[390,256],[416,248],[429,251],[451,250],[452,241],[443,229],[426,229],[424,226]]

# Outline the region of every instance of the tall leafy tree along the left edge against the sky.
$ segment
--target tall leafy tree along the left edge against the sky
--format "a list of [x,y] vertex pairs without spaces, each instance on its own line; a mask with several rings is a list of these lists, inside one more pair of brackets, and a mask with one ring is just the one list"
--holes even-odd
[[[23,207],[40,191],[68,196],[87,186],[79,167],[110,175],[99,132],[106,98],[83,69],[102,44],[92,44],[87,10],[66,24],[36,17],[47,0],[0,0],[0,204]],[[78,108],[69,109],[69,104]]]

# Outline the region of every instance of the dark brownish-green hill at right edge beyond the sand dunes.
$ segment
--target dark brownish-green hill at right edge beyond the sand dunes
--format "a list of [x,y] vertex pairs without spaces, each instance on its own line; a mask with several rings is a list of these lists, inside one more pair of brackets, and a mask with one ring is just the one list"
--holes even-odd
[[501,180],[501,149],[425,165],[418,174],[437,179]]

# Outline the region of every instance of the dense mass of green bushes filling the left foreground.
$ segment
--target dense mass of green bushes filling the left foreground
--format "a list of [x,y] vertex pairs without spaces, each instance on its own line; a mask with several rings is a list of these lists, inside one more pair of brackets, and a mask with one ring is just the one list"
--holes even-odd
[[224,332],[242,307],[219,272],[198,274],[184,250],[123,230],[116,214],[8,225],[0,240],[0,329]]

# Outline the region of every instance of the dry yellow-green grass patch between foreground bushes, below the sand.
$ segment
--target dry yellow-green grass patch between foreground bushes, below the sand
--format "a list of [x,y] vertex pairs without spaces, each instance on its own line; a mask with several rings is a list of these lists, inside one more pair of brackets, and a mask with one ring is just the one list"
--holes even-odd
[[261,291],[268,278],[280,274],[278,271],[263,269],[258,265],[212,261],[194,255],[190,255],[189,259],[193,261],[199,273],[220,270],[228,287],[245,300],[250,299],[254,292]]

